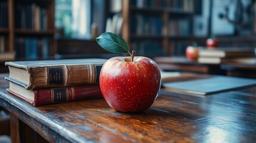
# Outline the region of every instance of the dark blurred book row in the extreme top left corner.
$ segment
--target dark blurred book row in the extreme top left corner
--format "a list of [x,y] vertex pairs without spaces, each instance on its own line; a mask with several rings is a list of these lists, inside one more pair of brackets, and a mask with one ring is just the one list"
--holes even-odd
[[0,28],[7,28],[7,2],[0,1]]

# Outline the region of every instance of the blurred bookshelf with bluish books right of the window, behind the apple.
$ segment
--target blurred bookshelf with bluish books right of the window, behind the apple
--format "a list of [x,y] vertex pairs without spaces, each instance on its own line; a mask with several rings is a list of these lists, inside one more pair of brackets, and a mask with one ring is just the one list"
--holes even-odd
[[129,0],[122,7],[122,37],[137,55],[180,56],[203,39],[193,34],[195,0]]

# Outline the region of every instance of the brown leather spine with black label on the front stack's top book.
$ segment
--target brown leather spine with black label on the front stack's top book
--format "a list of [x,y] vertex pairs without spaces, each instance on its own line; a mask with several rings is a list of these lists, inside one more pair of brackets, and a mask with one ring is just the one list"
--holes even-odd
[[30,67],[30,83],[26,89],[75,86],[98,83],[103,64]]

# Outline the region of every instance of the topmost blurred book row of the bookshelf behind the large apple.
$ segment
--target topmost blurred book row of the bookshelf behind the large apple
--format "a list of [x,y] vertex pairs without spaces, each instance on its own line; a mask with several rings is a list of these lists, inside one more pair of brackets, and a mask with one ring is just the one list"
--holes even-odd
[[175,11],[193,11],[193,0],[132,0],[131,4],[138,8],[169,8]]

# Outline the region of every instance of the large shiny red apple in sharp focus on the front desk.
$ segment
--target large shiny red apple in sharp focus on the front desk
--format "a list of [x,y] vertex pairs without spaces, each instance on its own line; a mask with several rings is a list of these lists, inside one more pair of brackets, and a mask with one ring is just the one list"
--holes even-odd
[[113,57],[100,71],[100,89],[110,107],[122,112],[147,110],[155,101],[161,73],[147,57]]

